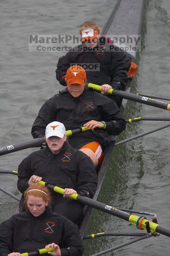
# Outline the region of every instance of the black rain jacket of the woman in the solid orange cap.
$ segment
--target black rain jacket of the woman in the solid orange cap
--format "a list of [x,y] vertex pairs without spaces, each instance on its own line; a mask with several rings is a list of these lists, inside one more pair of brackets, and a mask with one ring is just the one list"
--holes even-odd
[[66,130],[69,130],[83,126],[90,120],[105,121],[106,129],[74,134],[69,138],[70,143],[79,137],[84,140],[89,138],[105,148],[109,143],[108,134],[118,135],[126,126],[120,109],[111,99],[86,87],[79,97],[74,98],[66,88],[44,103],[34,121],[31,133],[33,138],[44,137],[46,125],[53,121],[63,123]]

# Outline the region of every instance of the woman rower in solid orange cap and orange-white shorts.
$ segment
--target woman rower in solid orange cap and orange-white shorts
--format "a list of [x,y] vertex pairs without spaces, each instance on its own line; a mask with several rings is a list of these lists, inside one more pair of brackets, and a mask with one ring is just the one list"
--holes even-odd
[[90,156],[97,166],[109,143],[108,133],[120,134],[126,122],[114,101],[85,87],[86,72],[82,67],[70,67],[65,79],[67,88],[44,103],[31,133],[34,138],[43,137],[46,125],[55,120],[66,129],[84,125],[89,131],[70,136],[69,143]]

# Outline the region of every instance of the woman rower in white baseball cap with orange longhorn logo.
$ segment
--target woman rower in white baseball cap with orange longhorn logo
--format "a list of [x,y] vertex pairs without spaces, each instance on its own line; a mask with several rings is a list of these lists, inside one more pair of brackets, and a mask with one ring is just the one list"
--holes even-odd
[[23,193],[33,182],[46,181],[64,188],[62,195],[52,192],[52,209],[74,223],[79,223],[83,205],[68,199],[72,193],[92,198],[97,188],[97,174],[91,159],[72,148],[62,123],[46,126],[46,148],[31,153],[18,167],[18,189]]

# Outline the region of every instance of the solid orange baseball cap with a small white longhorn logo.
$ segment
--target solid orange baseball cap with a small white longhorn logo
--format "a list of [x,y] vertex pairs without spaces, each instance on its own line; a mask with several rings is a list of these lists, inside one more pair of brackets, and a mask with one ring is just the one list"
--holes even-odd
[[74,65],[67,69],[66,76],[62,76],[62,78],[66,79],[67,86],[74,83],[84,85],[86,71],[81,66]]

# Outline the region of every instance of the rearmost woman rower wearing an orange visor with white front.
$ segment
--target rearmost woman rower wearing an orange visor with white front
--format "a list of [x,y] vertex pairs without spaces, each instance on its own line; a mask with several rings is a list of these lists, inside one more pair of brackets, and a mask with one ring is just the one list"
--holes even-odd
[[[131,59],[125,52],[114,50],[105,37],[100,37],[101,30],[94,21],[82,23],[79,33],[82,44],[58,60],[56,78],[60,84],[67,85],[62,77],[71,64],[83,65],[84,68],[88,64],[98,64],[98,69],[94,65],[93,69],[86,70],[87,82],[101,85],[102,93],[110,88],[124,90]],[[110,97],[113,99],[112,95]]]

